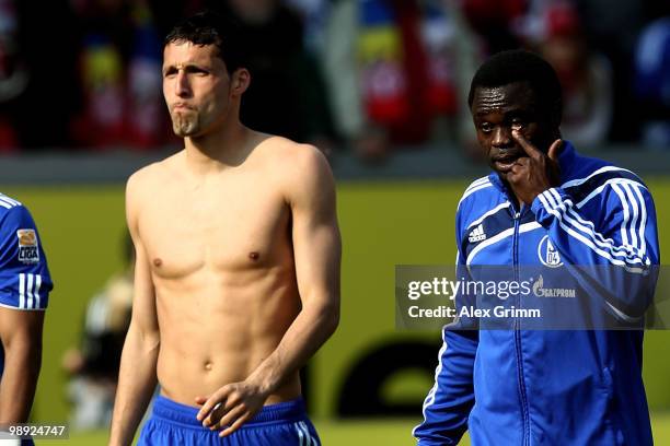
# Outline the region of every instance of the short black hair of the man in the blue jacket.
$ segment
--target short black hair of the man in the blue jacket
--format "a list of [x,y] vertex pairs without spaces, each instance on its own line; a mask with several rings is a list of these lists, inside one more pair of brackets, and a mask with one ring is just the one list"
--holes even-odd
[[467,105],[472,107],[477,87],[495,87],[516,82],[528,82],[543,111],[561,120],[563,90],[556,71],[546,60],[524,49],[497,52],[482,63],[470,84]]

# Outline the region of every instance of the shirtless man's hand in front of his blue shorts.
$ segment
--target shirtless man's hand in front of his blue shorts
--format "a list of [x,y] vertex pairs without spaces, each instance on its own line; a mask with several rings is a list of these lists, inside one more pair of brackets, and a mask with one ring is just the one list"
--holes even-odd
[[228,384],[209,397],[196,398],[203,406],[196,418],[211,431],[226,427],[219,434],[224,437],[251,420],[268,396],[261,386],[247,382]]

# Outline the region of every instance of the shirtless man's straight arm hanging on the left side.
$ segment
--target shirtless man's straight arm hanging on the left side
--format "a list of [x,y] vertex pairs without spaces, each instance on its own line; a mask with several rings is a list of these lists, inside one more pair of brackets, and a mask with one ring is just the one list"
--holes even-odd
[[128,180],[126,213],[135,244],[135,286],[132,318],[118,373],[118,387],[112,418],[111,445],[129,445],[147,410],[157,385],[155,365],[160,345],[155,296],[147,254],[138,232],[139,195],[137,174]]

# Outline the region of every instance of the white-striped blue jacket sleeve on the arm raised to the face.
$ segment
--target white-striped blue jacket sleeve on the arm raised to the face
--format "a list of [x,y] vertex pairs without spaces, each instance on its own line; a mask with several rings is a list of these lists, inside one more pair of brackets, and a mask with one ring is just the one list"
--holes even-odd
[[532,210],[564,262],[579,266],[588,294],[602,296],[619,320],[640,320],[660,260],[651,195],[640,183],[621,180],[605,184],[591,199],[599,200],[598,215],[557,187],[540,193]]

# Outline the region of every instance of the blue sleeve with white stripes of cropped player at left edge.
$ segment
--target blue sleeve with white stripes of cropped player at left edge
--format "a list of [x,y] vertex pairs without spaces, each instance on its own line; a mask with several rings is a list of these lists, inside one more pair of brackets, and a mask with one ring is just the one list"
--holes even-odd
[[0,305],[44,309],[53,283],[35,222],[23,206],[0,219]]

